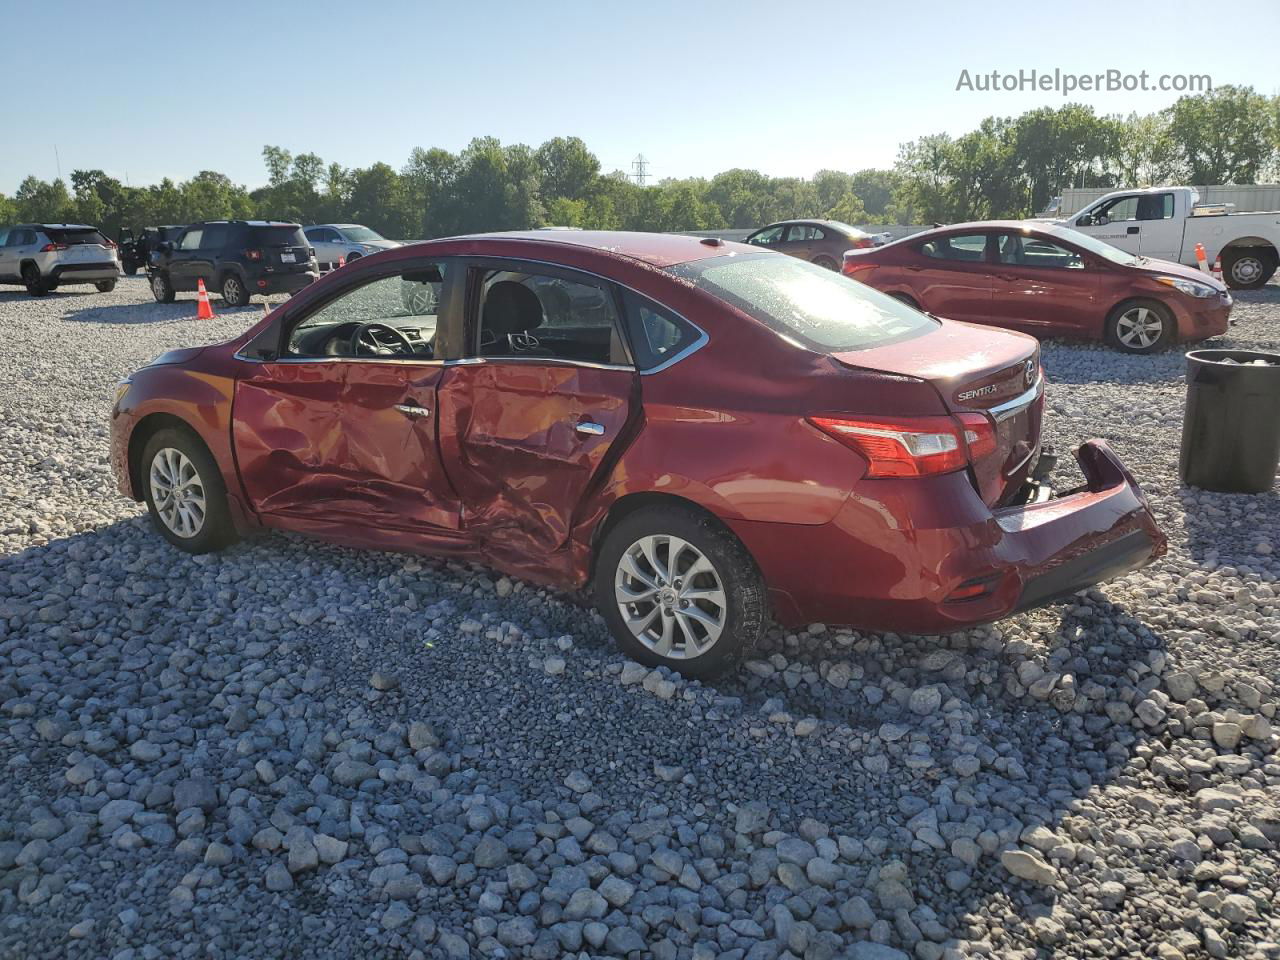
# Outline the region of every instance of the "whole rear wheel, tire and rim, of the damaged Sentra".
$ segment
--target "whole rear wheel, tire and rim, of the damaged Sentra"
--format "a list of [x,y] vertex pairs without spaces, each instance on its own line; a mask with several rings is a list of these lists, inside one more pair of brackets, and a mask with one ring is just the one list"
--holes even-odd
[[691,507],[623,517],[600,547],[593,591],[623,653],[687,677],[735,667],[764,632],[755,561],[718,520]]

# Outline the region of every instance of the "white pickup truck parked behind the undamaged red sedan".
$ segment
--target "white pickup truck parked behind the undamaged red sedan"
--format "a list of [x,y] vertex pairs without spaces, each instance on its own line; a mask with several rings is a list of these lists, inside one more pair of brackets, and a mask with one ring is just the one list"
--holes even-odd
[[1230,214],[1198,206],[1192,187],[1120,189],[1071,216],[1053,220],[1120,250],[1196,266],[1196,244],[1208,262],[1222,257],[1222,279],[1236,289],[1261,287],[1280,265],[1280,211]]

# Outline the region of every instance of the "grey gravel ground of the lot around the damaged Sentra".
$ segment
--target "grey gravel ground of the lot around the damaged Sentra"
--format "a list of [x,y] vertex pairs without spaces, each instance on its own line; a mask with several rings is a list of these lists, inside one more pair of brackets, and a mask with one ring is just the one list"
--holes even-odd
[[1044,351],[1162,562],[700,685],[485,570],[169,548],[108,411],[215,308],[0,292],[0,956],[1280,957],[1280,497],[1179,488],[1180,352]]

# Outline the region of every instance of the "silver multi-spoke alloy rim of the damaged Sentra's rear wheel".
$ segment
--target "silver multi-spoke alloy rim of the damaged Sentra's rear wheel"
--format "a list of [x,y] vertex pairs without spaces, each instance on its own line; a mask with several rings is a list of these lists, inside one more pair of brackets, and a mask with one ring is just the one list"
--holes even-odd
[[622,620],[659,657],[701,657],[724,630],[728,595],[714,564],[687,540],[643,536],[618,561],[613,584]]

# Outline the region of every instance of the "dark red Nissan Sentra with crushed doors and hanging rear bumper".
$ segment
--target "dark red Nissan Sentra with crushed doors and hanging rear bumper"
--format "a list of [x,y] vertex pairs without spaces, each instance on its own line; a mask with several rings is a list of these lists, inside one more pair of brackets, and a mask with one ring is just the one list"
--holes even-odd
[[590,588],[631,657],[771,614],[945,632],[1165,549],[1101,440],[1044,483],[1033,338],[718,239],[525,233],[348,264],[122,383],[111,460],[175,547],[259,527]]

